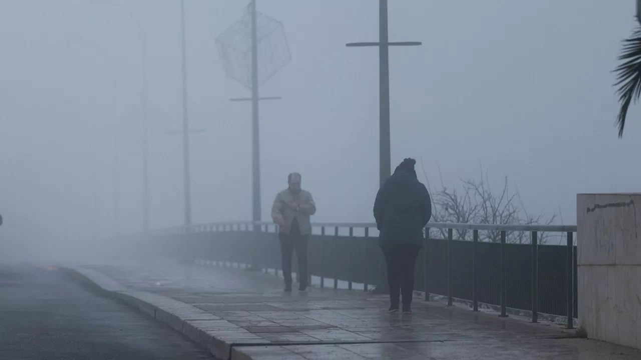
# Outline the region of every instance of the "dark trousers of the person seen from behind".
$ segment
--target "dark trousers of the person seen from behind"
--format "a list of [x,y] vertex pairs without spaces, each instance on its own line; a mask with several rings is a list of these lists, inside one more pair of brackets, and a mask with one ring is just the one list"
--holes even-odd
[[414,265],[419,248],[411,245],[384,246],[383,255],[387,263],[387,284],[390,287],[390,302],[399,306],[403,294],[403,306],[412,304],[414,292]]

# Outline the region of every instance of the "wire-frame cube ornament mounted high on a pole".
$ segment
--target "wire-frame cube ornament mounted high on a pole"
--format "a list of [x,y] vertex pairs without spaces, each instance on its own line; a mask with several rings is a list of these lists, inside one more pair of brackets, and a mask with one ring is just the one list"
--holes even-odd
[[[244,15],[216,38],[227,76],[251,90],[251,4]],[[285,29],[278,20],[256,12],[258,86],[262,86],[291,60]]]

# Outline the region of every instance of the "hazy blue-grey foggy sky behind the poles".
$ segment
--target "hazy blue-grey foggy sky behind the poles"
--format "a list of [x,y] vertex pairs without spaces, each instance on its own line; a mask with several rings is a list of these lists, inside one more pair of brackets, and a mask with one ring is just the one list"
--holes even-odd
[[[187,0],[190,123],[206,129],[192,136],[194,222],[251,218],[251,108],[228,101],[249,92],[226,78],[214,43],[244,6]],[[299,171],[315,220],[372,220],[378,50],[344,44],[378,40],[378,2],[258,6],[283,22],[292,53],[261,89],[283,96],[261,103],[263,218]],[[496,185],[509,176],[529,211],[560,207],[566,224],[576,193],[637,191],[640,113],[618,140],[611,86],[634,12],[631,0],[390,1],[390,40],[423,42],[390,54],[393,166],[422,158],[436,183],[438,161],[451,187],[480,162]],[[143,69],[151,226],[181,224],[181,136],[167,134],[181,128],[179,29],[178,0],[0,3],[4,236],[110,234],[115,129],[120,227],[140,229]]]

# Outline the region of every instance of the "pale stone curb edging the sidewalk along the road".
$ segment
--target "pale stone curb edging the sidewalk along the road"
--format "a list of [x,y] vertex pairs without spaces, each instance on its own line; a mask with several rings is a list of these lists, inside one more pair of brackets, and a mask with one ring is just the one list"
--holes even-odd
[[[158,322],[181,332],[190,340],[206,348],[217,359],[231,360],[231,350],[237,345],[265,343],[265,339],[260,336],[184,302],[146,291],[131,290],[90,268],[67,267],[64,269],[79,281],[86,282],[105,295],[121,300]],[[238,352],[234,354],[241,355]],[[241,357],[251,359],[247,356]]]

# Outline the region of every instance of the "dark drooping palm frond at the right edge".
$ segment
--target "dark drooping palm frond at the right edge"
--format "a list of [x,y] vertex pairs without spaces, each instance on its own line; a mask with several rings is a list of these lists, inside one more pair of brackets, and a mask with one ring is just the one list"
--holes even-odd
[[635,29],[630,38],[623,40],[619,60],[623,63],[614,70],[617,73],[617,82],[614,86],[619,86],[617,95],[619,95],[621,108],[617,117],[617,126],[619,126],[620,138],[626,126],[630,103],[637,102],[641,95],[641,27]]

